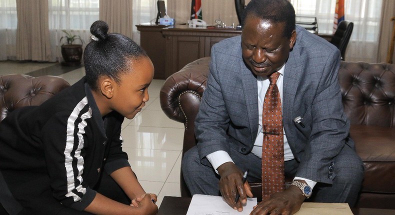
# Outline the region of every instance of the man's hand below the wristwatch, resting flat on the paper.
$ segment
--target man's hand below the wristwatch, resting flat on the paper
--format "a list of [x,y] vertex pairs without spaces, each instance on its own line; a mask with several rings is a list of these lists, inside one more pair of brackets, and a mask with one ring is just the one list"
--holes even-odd
[[300,205],[303,203],[305,197],[302,195],[299,187],[289,186],[288,189],[277,192],[265,201],[259,202],[254,206],[250,215],[263,215],[263,214],[282,214],[288,215],[297,212]]

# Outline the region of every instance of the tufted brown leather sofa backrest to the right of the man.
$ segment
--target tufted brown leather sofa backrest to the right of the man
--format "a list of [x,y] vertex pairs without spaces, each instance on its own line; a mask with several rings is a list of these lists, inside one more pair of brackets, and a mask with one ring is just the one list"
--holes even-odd
[[395,65],[341,61],[339,83],[351,124],[395,125]]

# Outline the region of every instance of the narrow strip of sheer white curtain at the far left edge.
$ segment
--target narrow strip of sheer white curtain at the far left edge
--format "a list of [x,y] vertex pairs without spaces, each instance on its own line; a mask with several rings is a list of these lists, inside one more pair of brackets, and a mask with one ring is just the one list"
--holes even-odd
[[16,0],[0,0],[0,60],[16,59]]

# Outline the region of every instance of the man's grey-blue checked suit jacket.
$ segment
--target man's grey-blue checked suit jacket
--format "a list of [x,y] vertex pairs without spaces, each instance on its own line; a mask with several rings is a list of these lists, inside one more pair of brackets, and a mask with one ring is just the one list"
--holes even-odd
[[[328,167],[345,144],[349,121],[343,112],[337,73],[339,50],[317,35],[296,26],[296,43],[285,63],[283,125],[295,159],[296,176],[331,183]],[[293,119],[301,116],[302,123]],[[250,153],[258,130],[256,76],[244,64],[241,37],[222,40],[211,49],[210,73],[195,120],[201,162],[229,144]]]

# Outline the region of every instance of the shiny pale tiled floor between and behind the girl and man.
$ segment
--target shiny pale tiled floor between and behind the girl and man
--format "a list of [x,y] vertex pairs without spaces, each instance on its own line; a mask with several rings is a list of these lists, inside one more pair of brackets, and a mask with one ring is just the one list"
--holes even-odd
[[[51,68],[59,69],[55,63],[0,61],[0,75],[42,74],[43,71],[51,74]],[[84,75],[84,68],[60,74],[56,70],[52,74],[73,84]],[[165,195],[180,196],[179,170],[183,140],[183,124],[169,119],[160,109],[159,90],[163,82],[152,80],[148,87],[149,101],[133,119],[124,120],[121,131],[123,149],[129,156],[129,163],[145,191],[158,195],[158,206]]]

